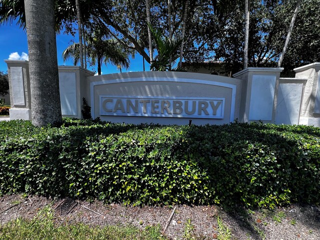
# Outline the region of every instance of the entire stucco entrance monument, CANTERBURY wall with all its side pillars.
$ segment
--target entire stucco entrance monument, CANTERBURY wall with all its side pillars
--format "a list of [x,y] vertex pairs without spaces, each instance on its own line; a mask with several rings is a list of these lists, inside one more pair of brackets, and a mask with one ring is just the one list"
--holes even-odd
[[[28,61],[5,60],[10,119],[30,119]],[[320,62],[295,68],[248,67],[224,77],[192,72],[125,72],[94,76],[59,66],[63,116],[81,118],[82,98],[92,118],[126,123],[224,124],[263,121],[320,126]]]

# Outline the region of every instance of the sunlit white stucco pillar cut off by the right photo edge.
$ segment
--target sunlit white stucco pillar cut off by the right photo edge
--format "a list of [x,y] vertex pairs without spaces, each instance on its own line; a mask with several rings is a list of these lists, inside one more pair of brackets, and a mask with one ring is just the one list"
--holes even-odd
[[305,78],[299,124],[320,126],[320,62],[293,69],[296,78]]

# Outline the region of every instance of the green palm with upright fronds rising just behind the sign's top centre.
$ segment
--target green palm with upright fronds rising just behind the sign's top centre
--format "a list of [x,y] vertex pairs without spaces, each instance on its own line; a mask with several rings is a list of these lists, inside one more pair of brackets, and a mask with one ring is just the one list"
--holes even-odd
[[151,25],[148,25],[148,27],[152,33],[158,52],[151,62],[150,69],[156,71],[171,70],[171,61],[178,57],[177,50],[182,40],[170,39],[163,36],[160,31],[153,29]]

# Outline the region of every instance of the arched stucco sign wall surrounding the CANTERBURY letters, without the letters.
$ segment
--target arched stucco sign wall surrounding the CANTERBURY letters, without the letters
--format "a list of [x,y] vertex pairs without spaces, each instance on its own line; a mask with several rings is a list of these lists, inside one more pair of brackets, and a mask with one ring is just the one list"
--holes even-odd
[[[240,96],[237,90],[240,89],[240,81],[234,78],[185,72],[130,72],[91,76],[88,77],[88,80],[90,82],[91,115],[92,117],[99,116],[107,121],[187,124],[189,119],[192,119],[192,123],[195,124],[222,124],[238,117]],[[141,101],[148,98],[150,100],[148,107],[151,107],[151,101],[154,99],[157,101],[156,99],[166,98],[171,102],[170,104],[173,100],[180,101],[181,99],[183,102],[187,99],[208,102],[212,100],[215,102],[214,104],[217,104],[216,100],[221,98],[223,100],[221,100],[219,110],[223,105],[223,117],[206,115],[204,119],[204,115],[168,114],[166,111],[163,112],[164,114],[150,114],[149,112],[143,116],[140,112],[138,114],[130,112],[129,116],[125,116],[126,114],[121,111],[116,112],[119,114],[103,115],[105,111],[101,111],[101,96],[109,98],[113,96],[114,101],[121,97],[130,98],[132,101],[134,98]],[[105,97],[103,99],[106,99]],[[111,102],[108,104],[110,107]],[[209,110],[210,105],[208,103],[207,105]],[[104,113],[101,114],[102,112]],[[203,111],[202,114],[206,113]]]

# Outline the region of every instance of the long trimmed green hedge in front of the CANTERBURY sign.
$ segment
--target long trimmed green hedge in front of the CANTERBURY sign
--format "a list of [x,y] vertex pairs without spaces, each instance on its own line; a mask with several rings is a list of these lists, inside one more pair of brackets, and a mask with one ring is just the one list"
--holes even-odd
[[320,128],[0,122],[0,194],[133,204],[267,206],[320,199]]

